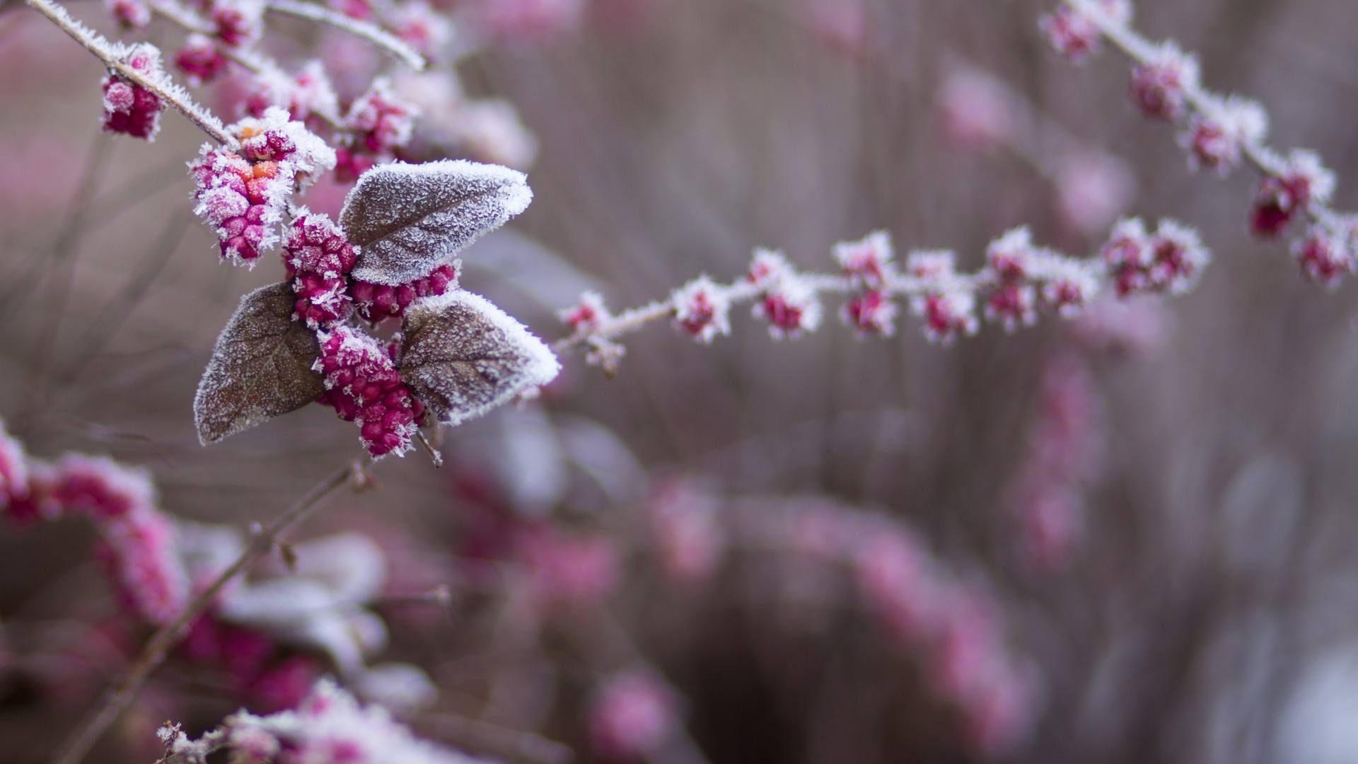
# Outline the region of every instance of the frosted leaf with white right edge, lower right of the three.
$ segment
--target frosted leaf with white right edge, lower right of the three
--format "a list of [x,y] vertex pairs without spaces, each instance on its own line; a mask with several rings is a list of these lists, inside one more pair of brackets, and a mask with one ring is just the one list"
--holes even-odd
[[401,379],[443,424],[460,424],[551,382],[551,349],[486,298],[452,291],[409,309]]

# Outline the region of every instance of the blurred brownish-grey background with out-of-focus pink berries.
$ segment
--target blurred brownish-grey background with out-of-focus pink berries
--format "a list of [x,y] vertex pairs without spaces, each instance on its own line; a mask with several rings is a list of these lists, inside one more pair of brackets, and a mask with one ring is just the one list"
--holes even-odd
[[[914,318],[774,341],[737,310],[710,347],[657,325],[625,338],[617,378],[568,355],[540,402],[444,432],[441,469],[382,461],[376,492],[293,537],[380,548],[372,661],[437,689],[413,727],[504,761],[1358,761],[1353,287],[1251,239],[1249,173],[1190,173],[1123,58],[1050,50],[1044,1],[561,5],[486,22],[463,94],[406,86],[428,99],[414,156],[530,171],[534,204],[464,254],[462,284],[549,340],[583,290],[641,305],[737,277],[755,246],[830,271],[835,242],[876,228],[971,268],[1017,224],[1093,253],[1123,213],[1175,216],[1214,262],[1181,299],[949,348]],[[1358,173],[1358,5],[1142,5],[1209,86],[1268,106],[1275,145]],[[270,29],[282,61],[314,50],[354,82],[387,65]],[[322,406],[198,446],[213,340],[281,271],[219,262],[186,121],[149,145],[102,135],[98,63],[15,3],[0,61],[8,430],[43,458],[145,466],[167,513],[236,527],[360,455]],[[440,122],[462,98],[517,120],[478,141]],[[1342,182],[1338,207],[1355,201]],[[148,633],[92,542],[80,523],[0,533],[0,759],[43,760]],[[153,760],[164,719],[268,710],[209,669],[171,659],[91,760]]]

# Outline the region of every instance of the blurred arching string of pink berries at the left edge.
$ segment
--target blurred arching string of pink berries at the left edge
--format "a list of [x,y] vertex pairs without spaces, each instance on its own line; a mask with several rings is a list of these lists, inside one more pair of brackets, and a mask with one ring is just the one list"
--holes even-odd
[[168,623],[187,601],[174,523],[156,508],[144,470],[80,454],[35,459],[0,426],[0,513],[16,523],[87,518],[99,532],[96,556],[120,600],[148,623]]

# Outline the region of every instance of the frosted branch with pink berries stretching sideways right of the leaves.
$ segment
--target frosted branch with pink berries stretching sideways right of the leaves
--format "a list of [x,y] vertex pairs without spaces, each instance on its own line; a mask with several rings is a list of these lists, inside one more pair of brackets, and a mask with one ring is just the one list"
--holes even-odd
[[769,324],[774,337],[797,336],[820,325],[826,294],[847,298],[839,311],[845,324],[879,336],[895,332],[899,309],[894,300],[904,298],[923,319],[925,334],[948,344],[979,329],[978,310],[1012,332],[1033,324],[1043,307],[1073,315],[1107,288],[1118,296],[1181,294],[1210,260],[1198,234],[1173,220],[1162,220],[1154,232],[1141,220],[1123,220],[1092,258],[1038,246],[1027,227],[1013,228],[990,242],[985,265],[971,273],[956,269],[949,250],[911,251],[903,269],[894,254],[885,231],[835,245],[839,273],[799,272],[782,253],[759,249],[741,279],[722,284],[699,276],[664,300],[619,314],[589,292],[561,311],[572,333],[553,347],[585,347],[591,363],[612,372],[623,355],[615,340],[648,324],[669,318],[708,343],[731,332],[732,306],[754,303],[754,315]]

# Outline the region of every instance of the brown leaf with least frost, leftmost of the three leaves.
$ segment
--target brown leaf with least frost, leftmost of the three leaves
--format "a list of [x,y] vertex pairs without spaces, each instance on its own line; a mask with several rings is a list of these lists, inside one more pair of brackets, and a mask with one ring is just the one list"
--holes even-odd
[[240,299],[193,400],[202,445],[296,411],[325,392],[311,370],[319,355],[316,338],[292,319],[293,302],[288,284],[261,287]]

